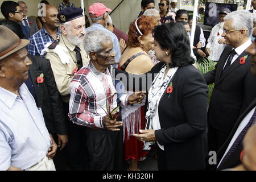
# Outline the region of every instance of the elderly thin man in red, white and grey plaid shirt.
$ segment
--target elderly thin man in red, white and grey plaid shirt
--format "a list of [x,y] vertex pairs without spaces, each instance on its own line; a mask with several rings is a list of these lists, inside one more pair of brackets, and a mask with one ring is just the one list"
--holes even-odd
[[[69,118],[73,123],[87,126],[87,146],[90,170],[122,169],[122,122],[110,120],[105,111],[117,107],[117,90],[108,67],[115,64],[111,37],[104,31],[90,31],[84,39],[90,62],[71,81]],[[123,105],[141,102],[143,96],[123,94]]]

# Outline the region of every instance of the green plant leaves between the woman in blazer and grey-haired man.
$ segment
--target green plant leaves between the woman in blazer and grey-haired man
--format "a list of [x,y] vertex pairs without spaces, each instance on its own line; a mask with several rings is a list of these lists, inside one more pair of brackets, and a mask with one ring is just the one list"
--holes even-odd
[[[197,69],[204,74],[209,71],[212,71],[215,68],[216,62],[210,60],[208,57],[203,57],[199,59],[197,62]],[[212,96],[212,90],[213,90],[214,84],[208,85],[208,103],[210,102],[210,97]]]

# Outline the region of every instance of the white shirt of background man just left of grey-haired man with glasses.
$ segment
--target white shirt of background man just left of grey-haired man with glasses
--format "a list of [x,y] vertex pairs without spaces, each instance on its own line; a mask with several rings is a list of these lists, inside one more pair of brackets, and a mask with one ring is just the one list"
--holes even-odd
[[208,38],[208,43],[206,48],[210,49],[209,59],[213,61],[218,61],[220,59],[220,55],[223,52],[226,44],[218,43],[218,40],[222,38],[221,34],[223,33],[223,28],[221,27],[221,22],[216,24],[212,28],[210,32],[210,36]]

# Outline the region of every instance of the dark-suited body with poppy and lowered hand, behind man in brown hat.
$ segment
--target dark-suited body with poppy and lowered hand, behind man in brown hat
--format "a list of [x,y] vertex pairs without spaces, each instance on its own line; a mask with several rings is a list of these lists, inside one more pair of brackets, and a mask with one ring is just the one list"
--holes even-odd
[[[48,59],[40,56],[27,55],[32,61],[25,84],[35,99],[36,106],[42,108],[46,127],[56,140],[60,151],[68,143],[67,123],[59,92]],[[63,154],[57,152],[53,159],[57,170],[65,170]]]

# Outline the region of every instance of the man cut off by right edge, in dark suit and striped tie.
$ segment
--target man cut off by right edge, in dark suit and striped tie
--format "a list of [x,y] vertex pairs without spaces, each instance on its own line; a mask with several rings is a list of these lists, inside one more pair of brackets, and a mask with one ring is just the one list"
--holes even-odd
[[[253,36],[256,37],[256,29],[253,31]],[[251,68],[250,72],[256,76],[256,40],[251,44],[250,47],[246,49],[246,52],[251,54]],[[251,84],[255,86],[255,82]],[[245,109],[245,111],[237,119],[232,132],[230,133],[228,139],[217,152],[217,162],[218,170],[233,168],[241,163],[243,154],[243,143],[242,140],[245,133],[256,119],[255,113],[256,107],[256,97],[251,102],[251,104]],[[254,117],[254,118],[253,118]],[[251,122],[250,122],[251,121]]]

